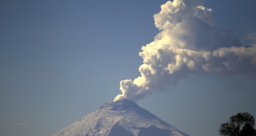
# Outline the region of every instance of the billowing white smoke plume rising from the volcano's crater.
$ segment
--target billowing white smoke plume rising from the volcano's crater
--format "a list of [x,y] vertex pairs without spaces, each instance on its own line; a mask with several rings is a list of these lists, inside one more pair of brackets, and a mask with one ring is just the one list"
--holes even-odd
[[242,46],[232,31],[220,31],[204,0],[174,0],[154,15],[160,33],[139,53],[141,76],[120,82],[114,101],[143,99],[191,74],[255,74],[256,46]]

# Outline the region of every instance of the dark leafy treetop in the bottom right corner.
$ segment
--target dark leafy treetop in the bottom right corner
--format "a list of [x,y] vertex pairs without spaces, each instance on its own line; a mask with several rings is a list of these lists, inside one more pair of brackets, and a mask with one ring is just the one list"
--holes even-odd
[[221,136],[256,136],[254,123],[250,113],[237,113],[227,123],[221,124],[218,132]]

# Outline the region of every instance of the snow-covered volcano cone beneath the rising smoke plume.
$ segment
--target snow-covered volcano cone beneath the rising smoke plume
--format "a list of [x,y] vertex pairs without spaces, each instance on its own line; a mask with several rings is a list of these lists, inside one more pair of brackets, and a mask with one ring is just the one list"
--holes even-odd
[[122,99],[107,102],[93,113],[52,136],[189,136],[141,108]]

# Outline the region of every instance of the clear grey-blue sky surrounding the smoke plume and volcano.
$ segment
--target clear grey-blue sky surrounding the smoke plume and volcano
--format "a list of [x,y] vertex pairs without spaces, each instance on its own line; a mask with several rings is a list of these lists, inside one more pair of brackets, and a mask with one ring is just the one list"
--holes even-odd
[[[166,1],[1,0],[0,136],[49,136],[113,101],[121,80],[140,76],[139,52],[159,33],[153,16]],[[255,45],[255,0],[204,6],[216,28]],[[218,136],[230,116],[256,116],[252,75],[193,74],[137,104],[191,136]]]

